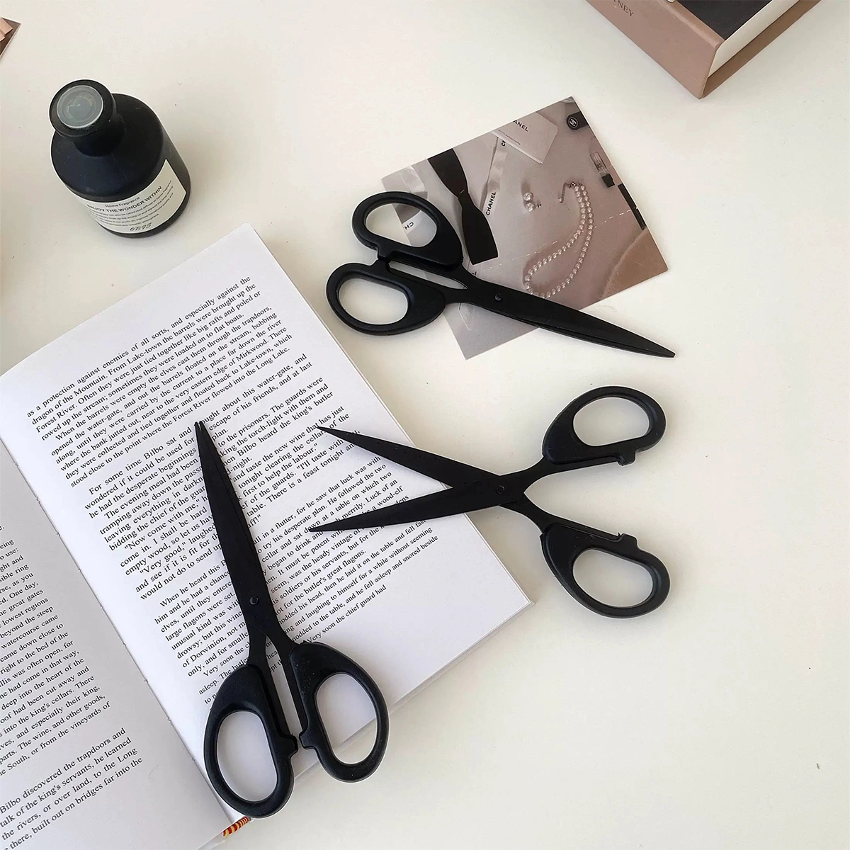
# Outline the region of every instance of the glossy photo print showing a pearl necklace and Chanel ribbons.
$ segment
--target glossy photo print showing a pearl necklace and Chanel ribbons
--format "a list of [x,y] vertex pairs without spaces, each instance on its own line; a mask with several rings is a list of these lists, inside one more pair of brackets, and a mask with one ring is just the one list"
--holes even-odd
[[[485,280],[581,309],[666,271],[655,240],[574,99],[436,153],[383,179],[428,198],[461,235]],[[428,241],[423,212],[398,207],[407,238]],[[467,304],[446,310],[465,357],[530,327]]]

